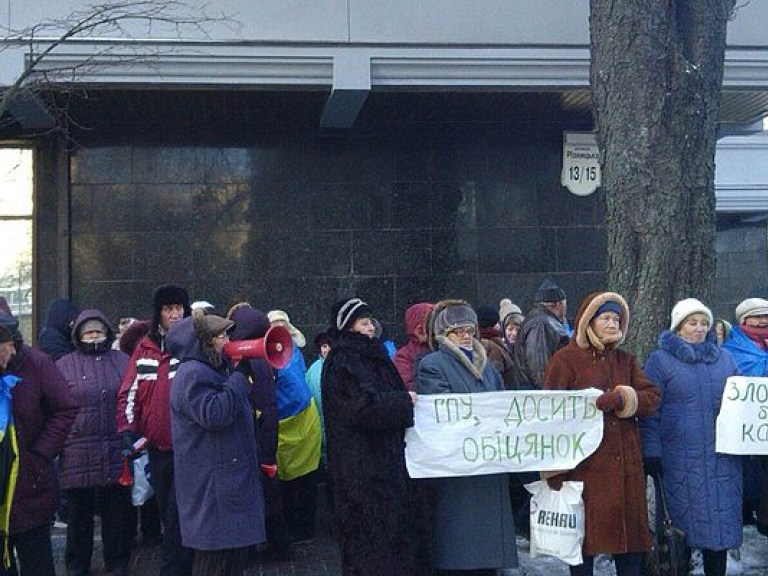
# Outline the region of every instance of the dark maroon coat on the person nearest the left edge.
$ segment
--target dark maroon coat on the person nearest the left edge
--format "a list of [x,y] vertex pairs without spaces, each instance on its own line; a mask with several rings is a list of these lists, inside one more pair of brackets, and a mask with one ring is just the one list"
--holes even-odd
[[10,533],[53,522],[58,483],[53,459],[75,419],[75,402],[50,356],[21,342],[6,372],[21,381],[13,390],[19,442],[19,476],[11,506]]

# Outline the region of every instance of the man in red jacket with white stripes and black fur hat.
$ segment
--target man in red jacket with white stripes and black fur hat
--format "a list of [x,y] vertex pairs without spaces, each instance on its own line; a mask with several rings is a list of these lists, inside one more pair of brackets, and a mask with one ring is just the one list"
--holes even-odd
[[162,576],[188,576],[192,551],[181,544],[173,474],[171,441],[171,382],[179,361],[165,347],[165,335],[189,316],[189,295],[174,284],[155,289],[152,327],[139,341],[117,395],[117,431],[124,452],[140,436],[147,439],[152,488],[163,524]]

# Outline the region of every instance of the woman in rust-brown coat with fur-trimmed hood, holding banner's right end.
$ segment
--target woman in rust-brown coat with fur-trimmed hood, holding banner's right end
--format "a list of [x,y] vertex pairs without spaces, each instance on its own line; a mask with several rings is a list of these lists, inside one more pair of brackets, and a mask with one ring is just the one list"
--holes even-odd
[[637,419],[652,414],[661,397],[636,358],[619,349],[628,326],[624,298],[590,294],[576,315],[574,338],[555,353],[544,378],[550,390],[603,390],[600,447],[574,470],[547,479],[553,489],[563,480],[584,482],[584,563],[571,567],[572,576],[591,576],[596,554],[612,554],[618,576],[640,576],[651,547]]

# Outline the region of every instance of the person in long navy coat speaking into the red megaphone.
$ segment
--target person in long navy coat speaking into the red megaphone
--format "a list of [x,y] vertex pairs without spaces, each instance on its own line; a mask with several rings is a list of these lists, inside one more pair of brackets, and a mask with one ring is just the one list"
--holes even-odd
[[180,361],[171,386],[173,464],[192,574],[242,576],[248,549],[266,540],[248,361],[222,354],[234,322],[194,310],[165,342]]

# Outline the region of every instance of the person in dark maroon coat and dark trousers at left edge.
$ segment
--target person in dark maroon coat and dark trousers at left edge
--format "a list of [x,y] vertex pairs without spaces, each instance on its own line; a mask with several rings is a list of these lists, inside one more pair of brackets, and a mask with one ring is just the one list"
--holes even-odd
[[[0,312],[0,325],[11,333],[15,353],[3,374],[21,380],[13,390],[19,475],[10,518],[10,549],[16,551],[21,576],[54,576],[51,524],[58,502],[53,460],[61,451],[75,418],[67,382],[46,354],[24,344],[13,316]],[[15,574],[11,568],[0,574]]]

